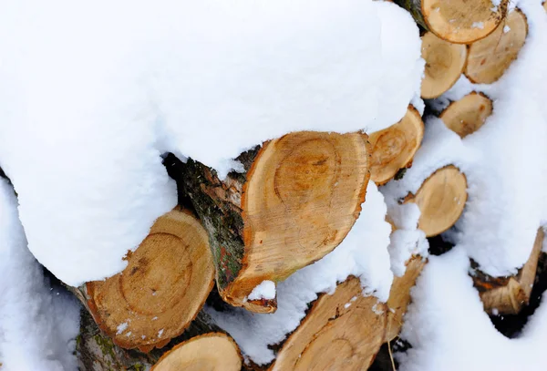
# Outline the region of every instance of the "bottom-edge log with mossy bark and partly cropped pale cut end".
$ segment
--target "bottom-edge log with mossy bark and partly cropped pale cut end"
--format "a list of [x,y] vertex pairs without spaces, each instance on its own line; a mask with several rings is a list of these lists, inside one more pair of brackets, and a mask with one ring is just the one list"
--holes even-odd
[[[203,338],[209,339],[204,342]],[[207,314],[200,313],[187,331],[162,349],[149,353],[124,349],[103,334],[91,315],[82,310],[77,336],[78,368],[88,371],[218,369],[239,371],[242,360],[237,345],[223,334]],[[191,355],[191,356],[189,356]],[[215,364],[220,361],[221,364]],[[178,366],[179,368],[174,367]],[[224,368],[225,367],[225,368]]]

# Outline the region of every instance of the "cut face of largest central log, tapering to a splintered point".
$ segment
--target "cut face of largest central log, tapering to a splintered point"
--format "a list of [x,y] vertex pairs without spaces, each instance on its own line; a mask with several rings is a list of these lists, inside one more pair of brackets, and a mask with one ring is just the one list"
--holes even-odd
[[367,136],[295,132],[264,143],[242,193],[243,266],[222,287],[224,300],[254,312],[274,301],[246,301],[263,281],[284,280],[344,240],[365,201]]

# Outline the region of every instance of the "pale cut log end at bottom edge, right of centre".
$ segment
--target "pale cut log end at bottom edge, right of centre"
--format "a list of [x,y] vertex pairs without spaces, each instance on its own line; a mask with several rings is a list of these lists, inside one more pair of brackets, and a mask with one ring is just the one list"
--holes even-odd
[[322,294],[284,343],[271,370],[361,370],[373,362],[386,334],[385,304],[362,295],[355,277]]

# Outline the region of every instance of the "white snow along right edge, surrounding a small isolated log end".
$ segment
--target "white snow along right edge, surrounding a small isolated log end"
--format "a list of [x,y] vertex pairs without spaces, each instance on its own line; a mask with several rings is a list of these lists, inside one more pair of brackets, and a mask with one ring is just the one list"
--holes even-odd
[[538,1],[517,5],[527,16],[529,36],[504,76],[490,85],[461,77],[444,95],[455,100],[483,92],[493,101],[493,114],[464,139],[441,120],[426,119],[412,168],[382,190],[387,199],[402,198],[418,191],[440,167],[459,167],[468,180],[469,199],[450,237],[492,276],[516,273],[532,252],[538,228],[547,222],[547,65],[542,62],[547,15]]

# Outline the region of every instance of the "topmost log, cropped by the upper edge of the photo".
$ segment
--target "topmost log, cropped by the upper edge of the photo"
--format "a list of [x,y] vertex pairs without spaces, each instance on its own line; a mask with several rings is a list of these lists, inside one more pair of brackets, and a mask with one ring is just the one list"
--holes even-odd
[[419,26],[443,40],[469,44],[496,29],[507,12],[508,1],[494,6],[490,0],[395,0]]

